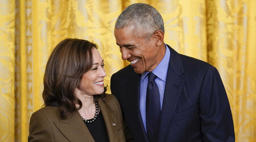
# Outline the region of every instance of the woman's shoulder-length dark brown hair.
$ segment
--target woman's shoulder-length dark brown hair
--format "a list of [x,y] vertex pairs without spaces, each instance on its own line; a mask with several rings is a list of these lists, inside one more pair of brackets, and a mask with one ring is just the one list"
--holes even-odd
[[[80,85],[82,75],[93,65],[92,49],[97,45],[82,39],[65,39],[53,49],[44,73],[43,99],[46,106],[60,107],[62,119],[76,110],[82,102],[75,97],[74,90]],[[104,93],[94,98],[104,98]],[[76,108],[76,104],[80,105]]]

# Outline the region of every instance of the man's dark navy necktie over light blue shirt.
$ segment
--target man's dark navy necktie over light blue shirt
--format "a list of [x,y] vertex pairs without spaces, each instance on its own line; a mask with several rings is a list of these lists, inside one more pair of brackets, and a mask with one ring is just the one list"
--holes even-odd
[[146,98],[146,126],[149,141],[156,142],[159,137],[160,124],[160,97],[158,86],[155,83],[155,74],[148,73],[147,98]]

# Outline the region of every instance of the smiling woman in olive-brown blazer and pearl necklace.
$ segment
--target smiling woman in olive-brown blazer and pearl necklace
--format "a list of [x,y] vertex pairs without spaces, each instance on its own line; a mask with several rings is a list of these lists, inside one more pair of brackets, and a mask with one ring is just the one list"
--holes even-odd
[[57,44],[44,74],[44,107],[31,116],[28,141],[131,140],[117,99],[105,94],[105,76],[96,44]]

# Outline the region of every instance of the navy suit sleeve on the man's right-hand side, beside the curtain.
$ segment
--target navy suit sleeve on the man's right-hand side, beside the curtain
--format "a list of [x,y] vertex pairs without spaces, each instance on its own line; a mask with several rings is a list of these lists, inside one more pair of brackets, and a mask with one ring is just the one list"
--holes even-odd
[[217,69],[204,75],[200,93],[201,131],[204,141],[234,141],[234,126],[228,96]]

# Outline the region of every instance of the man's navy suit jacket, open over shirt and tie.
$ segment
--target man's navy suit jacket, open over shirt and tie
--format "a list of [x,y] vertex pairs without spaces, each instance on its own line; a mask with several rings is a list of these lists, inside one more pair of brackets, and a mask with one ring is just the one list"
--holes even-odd
[[[171,51],[160,120],[160,141],[234,141],[228,97],[216,68]],[[134,141],[148,141],[139,110],[141,74],[130,65],[111,77]]]

